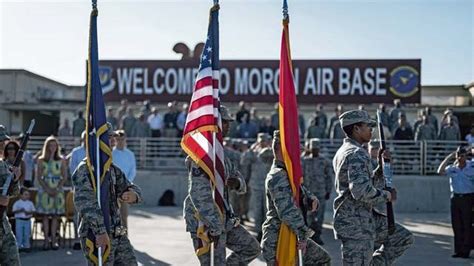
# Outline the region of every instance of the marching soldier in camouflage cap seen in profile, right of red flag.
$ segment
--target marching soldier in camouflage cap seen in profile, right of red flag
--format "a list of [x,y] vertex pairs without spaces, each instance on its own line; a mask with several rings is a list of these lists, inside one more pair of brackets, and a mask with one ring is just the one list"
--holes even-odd
[[[369,154],[362,147],[370,141],[376,123],[362,110],[345,112],[340,122],[347,137],[333,160],[338,194],[334,200],[334,233],[342,241],[343,263],[391,264],[413,238],[398,224],[395,233],[388,236],[387,219],[375,214],[376,206],[396,199],[395,190],[389,192],[374,186],[374,175],[376,180],[383,176],[379,170],[373,173]],[[380,156],[390,159],[387,151]],[[374,252],[376,242],[384,245]]]

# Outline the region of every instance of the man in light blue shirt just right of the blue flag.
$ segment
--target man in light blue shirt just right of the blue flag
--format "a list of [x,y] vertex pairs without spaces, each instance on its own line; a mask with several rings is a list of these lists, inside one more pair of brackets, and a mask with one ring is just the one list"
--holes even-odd
[[[137,175],[135,154],[127,148],[127,136],[125,131],[117,130],[114,135],[117,145],[112,152],[113,163],[122,170],[127,180],[133,183]],[[122,218],[123,225],[128,227],[128,204],[125,202],[121,203],[120,217]]]

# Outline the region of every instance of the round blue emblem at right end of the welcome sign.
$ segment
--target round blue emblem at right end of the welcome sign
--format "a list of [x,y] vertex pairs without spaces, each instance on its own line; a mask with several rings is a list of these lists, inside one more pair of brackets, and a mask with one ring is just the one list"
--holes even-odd
[[390,72],[390,91],[399,97],[410,97],[420,87],[420,75],[410,66],[399,66]]

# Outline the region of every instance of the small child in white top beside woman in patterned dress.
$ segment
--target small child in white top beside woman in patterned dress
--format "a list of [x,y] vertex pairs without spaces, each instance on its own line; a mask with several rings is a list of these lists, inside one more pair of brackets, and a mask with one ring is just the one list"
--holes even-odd
[[13,213],[16,220],[16,239],[20,251],[30,250],[31,216],[35,206],[30,201],[30,192],[21,189],[20,199],[13,204]]

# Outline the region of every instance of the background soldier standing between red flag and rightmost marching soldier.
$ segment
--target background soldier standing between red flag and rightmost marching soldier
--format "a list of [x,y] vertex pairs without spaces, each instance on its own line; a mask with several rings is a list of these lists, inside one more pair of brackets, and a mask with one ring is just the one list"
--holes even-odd
[[316,213],[308,214],[308,224],[315,234],[312,239],[319,245],[324,245],[321,240],[321,231],[324,222],[324,211],[326,200],[331,196],[333,188],[334,172],[331,162],[319,154],[319,139],[309,140],[310,154],[303,157],[301,166],[305,187],[311,191],[319,200],[319,208]]

